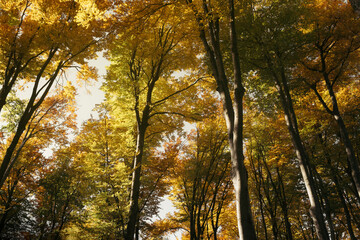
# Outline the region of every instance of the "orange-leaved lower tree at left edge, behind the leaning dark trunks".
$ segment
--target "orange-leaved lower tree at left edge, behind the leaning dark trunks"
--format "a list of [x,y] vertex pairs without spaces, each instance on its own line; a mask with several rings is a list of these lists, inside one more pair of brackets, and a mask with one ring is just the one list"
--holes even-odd
[[[16,229],[17,224],[24,233],[39,236],[35,210],[39,199],[34,196],[40,194],[39,191],[42,192],[39,184],[54,164],[51,158],[44,156],[44,150],[50,146],[57,148],[67,144],[68,132],[75,128],[74,98],[73,86],[67,85],[58,95],[44,100],[28,123],[11,163],[9,178],[1,192],[4,212],[1,214],[0,232],[3,237],[13,235],[11,229]],[[20,104],[19,107],[21,106],[23,105]],[[18,114],[21,114],[21,111]],[[11,133],[18,118],[16,115],[9,117],[9,123],[4,128]],[[11,138],[7,140],[10,144]],[[6,145],[3,151],[5,149]],[[18,234],[19,230],[15,236]]]

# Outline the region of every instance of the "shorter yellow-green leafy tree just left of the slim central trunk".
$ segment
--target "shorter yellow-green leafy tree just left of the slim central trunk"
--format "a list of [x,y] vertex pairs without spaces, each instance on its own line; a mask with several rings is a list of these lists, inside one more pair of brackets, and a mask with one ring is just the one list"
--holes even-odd
[[[98,107],[99,119],[89,119],[75,141],[64,149],[70,159],[71,189],[77,191],[76,211],[63,235],[79,239],[122,239],[129,208],[129,174],[124,131],[114,124],[108,107]],[[121,138],[124,137],[124,138]]]

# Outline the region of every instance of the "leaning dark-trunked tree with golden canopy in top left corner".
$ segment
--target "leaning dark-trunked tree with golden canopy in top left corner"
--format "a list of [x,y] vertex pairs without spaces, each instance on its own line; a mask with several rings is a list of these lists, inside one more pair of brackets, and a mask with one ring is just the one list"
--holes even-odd
[[[63,69],[93,57],[110,1],[87,5],[76,1],[13,0],[1,3],[0,111],[20,83],[32,85],[16,133],[0,167],[0,186],[11,170],[16,146],[36,110]],[[101,17],[100,17],[101,16]]]

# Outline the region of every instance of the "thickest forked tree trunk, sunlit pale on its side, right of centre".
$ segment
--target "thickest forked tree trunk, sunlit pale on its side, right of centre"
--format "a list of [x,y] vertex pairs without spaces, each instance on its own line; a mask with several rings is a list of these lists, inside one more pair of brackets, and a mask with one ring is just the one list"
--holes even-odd
[[[220,3],[220,2],[219,2]],[[186,4],[193,11],[195,21],[200,33],[209,68],[217,84],[217,90],[223,104],[223,114],[228,129],[229,146],[232,161],[232,179],[235,188],[237,219],[240,239],[256,239],[255,229],[251,214],[251,205],[248,191],[248,180],[243,156],[243,96],[245,89],[242,83],[240,69],[239,49],[237,47],[237,29],[235,19],[235,4],[232,0],[226,5],[212,4],[209,1],[187,0]],[[246,9],[247,3],[241,7]],[[229,16],[226,24],[223,13]],[[224,62],[224,50],[222,49],[222,37],[220,30],[228,29],[230,38],[229,55],[231,63],[229,70]],[[231,81],[230,84],[230,80]],[[230,93],[233,89],[233,95]]]

